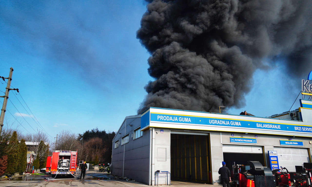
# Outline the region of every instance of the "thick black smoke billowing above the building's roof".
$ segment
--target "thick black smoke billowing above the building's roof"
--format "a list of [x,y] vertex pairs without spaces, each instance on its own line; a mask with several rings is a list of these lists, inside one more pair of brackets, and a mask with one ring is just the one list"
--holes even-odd
[[257,68],[285,66],[295,78],[312,69],[310,1],[148,2],[137,38],[151,53],[155,80],[138,113],[242,107]]

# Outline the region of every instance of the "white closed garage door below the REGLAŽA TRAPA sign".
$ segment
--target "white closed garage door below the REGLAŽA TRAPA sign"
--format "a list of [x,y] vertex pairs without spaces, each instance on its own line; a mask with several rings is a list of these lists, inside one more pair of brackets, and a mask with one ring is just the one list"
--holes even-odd
[[287,168],[289,172],[295,172],[295,165],[302,165],[304,162],[310,162],[308,149],[274,147],[277,151],[279,166]]

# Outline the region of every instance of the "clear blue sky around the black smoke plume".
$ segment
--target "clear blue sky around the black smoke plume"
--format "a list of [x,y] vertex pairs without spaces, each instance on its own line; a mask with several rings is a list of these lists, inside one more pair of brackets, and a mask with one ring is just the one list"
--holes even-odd
[[[13,67],[11,85],[20,90],[10,91],[4,125],[16,118],[30,133],[41,129],[23,108],[28,106],[50,137],[63,129],[118,130],[124,117],[136,115],[152,80],[149,53],[136,38],[145,11],[143,0],[0,1],[0,76],[8,77]],[[284,72],[278,65],[257,70],[246,106],[227,113],[288,111],[301,82]],[[298,107],[297,100],[291,109]]]

